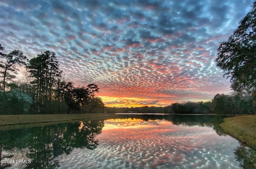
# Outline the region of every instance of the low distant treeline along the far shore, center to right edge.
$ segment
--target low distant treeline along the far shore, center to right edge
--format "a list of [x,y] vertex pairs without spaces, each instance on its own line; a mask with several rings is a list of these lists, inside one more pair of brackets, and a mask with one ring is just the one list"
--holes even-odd
[[256,114],[250,95],[216,94],[212,101],[173,103],[166,107],[105,107],[107,113]]

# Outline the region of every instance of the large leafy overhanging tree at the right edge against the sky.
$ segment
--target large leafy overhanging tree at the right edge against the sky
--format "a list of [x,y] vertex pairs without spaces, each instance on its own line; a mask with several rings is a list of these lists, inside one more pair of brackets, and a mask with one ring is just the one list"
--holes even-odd
[[220,43],[215,62],[223,70],[224,77],[230,78],[232,89],[255,93],[256,2],[228,40]]

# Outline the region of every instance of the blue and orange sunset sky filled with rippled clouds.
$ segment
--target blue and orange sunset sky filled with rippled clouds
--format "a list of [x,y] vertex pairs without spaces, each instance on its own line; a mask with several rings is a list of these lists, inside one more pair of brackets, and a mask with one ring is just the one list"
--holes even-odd
[[3,53],[56,53],[63,77],[108,107],[228,94],[214,59],[253,0],[1,0]]

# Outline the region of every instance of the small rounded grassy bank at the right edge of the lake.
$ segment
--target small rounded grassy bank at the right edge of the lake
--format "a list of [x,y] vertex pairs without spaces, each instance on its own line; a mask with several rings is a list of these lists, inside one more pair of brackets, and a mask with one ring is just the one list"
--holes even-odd
[[256,148],[256,115],[242,115],[224,119],[220,124],[224,132],[246,146]]

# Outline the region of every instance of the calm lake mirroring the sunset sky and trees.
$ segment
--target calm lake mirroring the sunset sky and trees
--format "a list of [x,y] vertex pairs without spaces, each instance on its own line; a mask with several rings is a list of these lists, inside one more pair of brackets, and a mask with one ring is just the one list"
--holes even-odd
[[[224,117],[128,115],[0,131],[2,168],[239,169]],[[217,134],[218,133],[218,134]],[[244,156],[243,156],[244,157]],[[4,160],[4,161],[3,161]]]

